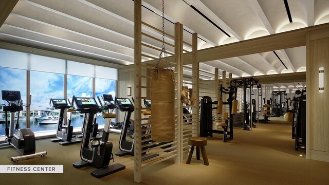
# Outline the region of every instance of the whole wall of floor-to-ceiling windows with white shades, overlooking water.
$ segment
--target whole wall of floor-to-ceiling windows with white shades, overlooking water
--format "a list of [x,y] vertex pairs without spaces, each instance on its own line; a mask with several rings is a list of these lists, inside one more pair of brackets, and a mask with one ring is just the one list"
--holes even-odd
[[[116,80],[117,69],[0,49],[0,90],[20,90],[23,104],[32,96],[30,110],[24,107],[20,113],[20,127],[29,125],[33,132],[56,130],[59,110],[49,105],[50,98],[115,97]],[[1,110],[0,122],[4,122]],[[30,120],[26,120],[27,114]],[[42,115],[49,115],[43,123],[38,121]],[[97,122],[104,124],[101,116]],[[81,123],[82,115],[74,113],[72,125],[81,127]],[[0,136],[4,134],[5,124],[0,123]]]

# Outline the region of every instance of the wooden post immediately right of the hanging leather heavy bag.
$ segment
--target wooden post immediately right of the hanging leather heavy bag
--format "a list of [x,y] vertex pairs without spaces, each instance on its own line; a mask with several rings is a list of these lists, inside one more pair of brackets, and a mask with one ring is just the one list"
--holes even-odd
[[176,96],[178,97],[175,101],[176,113],[177,115],[177,156],[175,157],[175,164],[179,164],[183,160],[183,146],[182,146],[182,122],[183,122],[183,107],[180,101],[180,92],[182,90],[182,80],[183,80],[183,25],[180,23],[175,23],[175,54],[176,54],[176,68],[177,72],[177,82],[175,82]]

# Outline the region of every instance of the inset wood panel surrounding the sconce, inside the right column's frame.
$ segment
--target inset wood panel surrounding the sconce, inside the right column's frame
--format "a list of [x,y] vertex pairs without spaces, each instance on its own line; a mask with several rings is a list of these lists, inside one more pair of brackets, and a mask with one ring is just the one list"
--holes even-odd
[[[310,150],[329,152],[329,38],[310,41],[310,64],[307,71],[312,81],[307,84],[309,102]],[[319,67],[324,67],[324,93],[319,93]],[[329,155],[329,153],[327,154]],[[312,159],[312,155],[310,156]]]

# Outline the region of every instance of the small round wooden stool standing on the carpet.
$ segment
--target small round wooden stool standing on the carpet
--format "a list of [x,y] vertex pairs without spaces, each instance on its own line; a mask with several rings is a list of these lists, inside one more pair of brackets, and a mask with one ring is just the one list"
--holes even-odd
[[205,146],[207,145],[207,139],[204,137],[190,137],[189,145],[191,145],[191,151],[189,157],[186,160],[186,163],[187,164],[191,163],[194,146],[196,146],[196,159],[200,160],[200,147],[201,147],[201,154],[202,154],[202,158],[204,159],[204,164],[209,165],[208,157],[205,149]]

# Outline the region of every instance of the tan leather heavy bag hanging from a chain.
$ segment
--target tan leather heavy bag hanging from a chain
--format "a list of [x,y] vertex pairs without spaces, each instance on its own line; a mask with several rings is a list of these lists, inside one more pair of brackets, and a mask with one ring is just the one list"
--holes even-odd
[[151,79],[152,140],[175,139],[175,81],[171,69],[153,69]]

